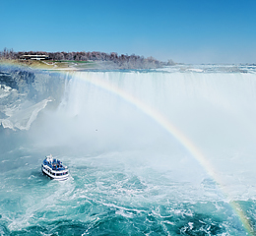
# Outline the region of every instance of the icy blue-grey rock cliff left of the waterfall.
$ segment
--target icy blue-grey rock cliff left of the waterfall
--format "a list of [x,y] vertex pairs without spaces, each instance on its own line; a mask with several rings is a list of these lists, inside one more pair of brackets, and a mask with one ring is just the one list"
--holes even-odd
[[66,77],[59,73],[0,66],[0,124],[3,128],[29,130],[42,109],[48,104],[58,105]]

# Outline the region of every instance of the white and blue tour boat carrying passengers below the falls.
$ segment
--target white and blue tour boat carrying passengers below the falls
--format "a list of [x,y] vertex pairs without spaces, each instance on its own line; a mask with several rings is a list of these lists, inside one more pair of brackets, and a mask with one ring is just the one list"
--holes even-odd
[[68,167],[64,166],[60,160],[53,158],[51,154],[42,161],[41,171],[55,180],[66,180],[69,177]]

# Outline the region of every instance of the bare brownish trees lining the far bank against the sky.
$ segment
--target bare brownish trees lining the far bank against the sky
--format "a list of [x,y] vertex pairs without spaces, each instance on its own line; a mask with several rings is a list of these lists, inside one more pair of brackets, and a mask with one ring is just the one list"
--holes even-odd
[[48,55],[49,60],[53,61],[105,61],[112,62],[119,69],[148,69],[159,68],[168,63],[163,63],[153,57],[145,58],[143,56],[132,55],[118,55],[116,52],[45,52],[45,51],[19,51],[15,52],[13,49],[4,48],[0,51],[0,58],[18,60],[23,55]]

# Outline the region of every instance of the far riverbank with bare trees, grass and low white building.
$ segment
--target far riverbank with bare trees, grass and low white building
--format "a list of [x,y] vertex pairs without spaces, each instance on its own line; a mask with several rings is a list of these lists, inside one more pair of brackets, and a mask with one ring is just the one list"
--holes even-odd
[[157,69],[172,65],[173,62],[161,62],[153,57],[118,55],[104,52],[14,52],[0,51],[0,62],[15,63],[46,70],[140,70]]

